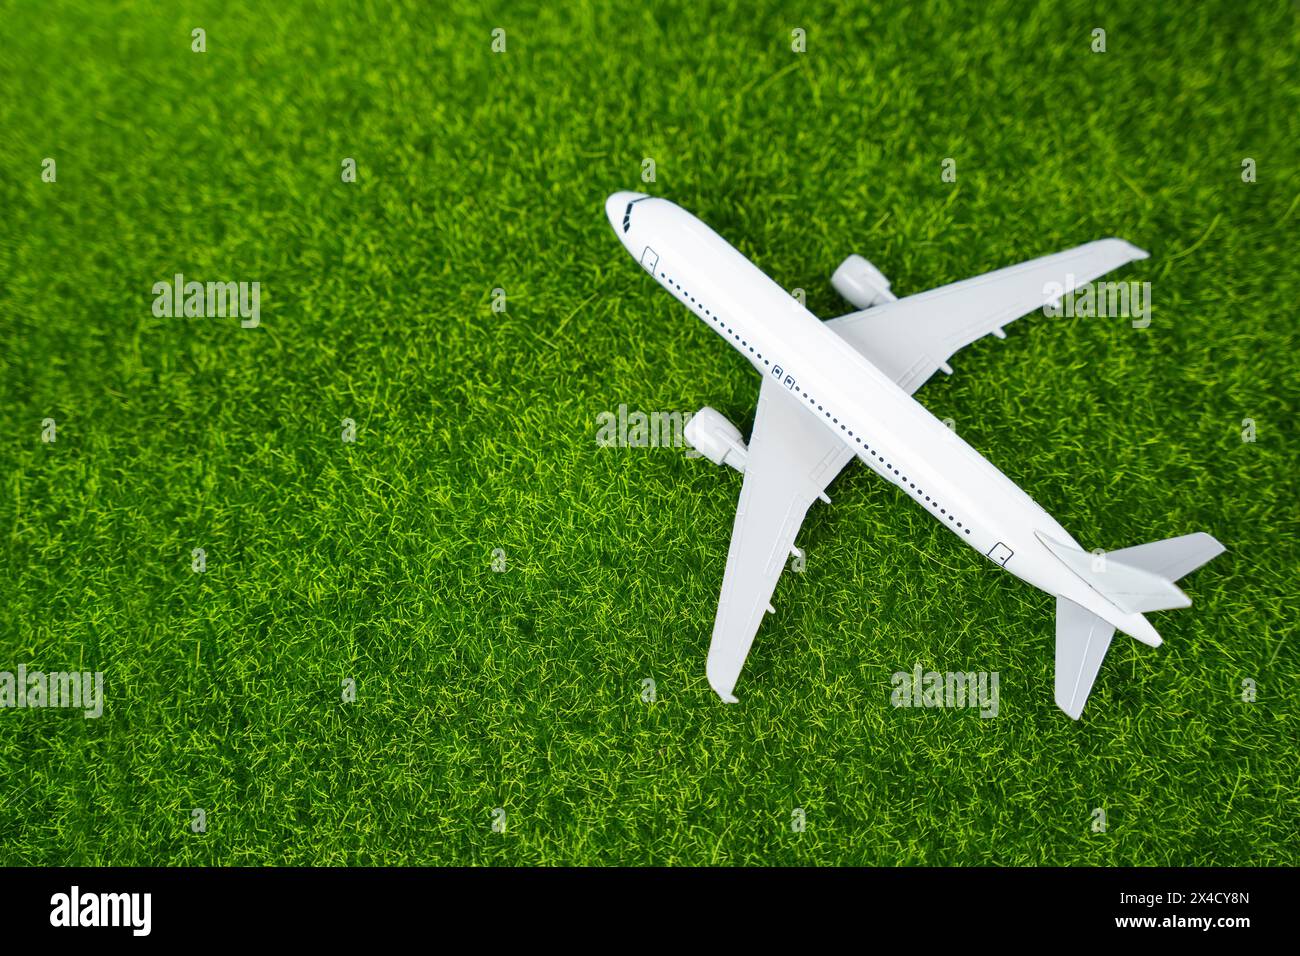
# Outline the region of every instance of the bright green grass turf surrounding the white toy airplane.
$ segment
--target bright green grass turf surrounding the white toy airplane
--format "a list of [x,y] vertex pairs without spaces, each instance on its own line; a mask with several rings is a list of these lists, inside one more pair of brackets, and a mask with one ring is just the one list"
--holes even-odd
[[[0,862],[1296,862],[1296,12],[1157,8],[8,4],[0,670],[107,704],[0,710]],[[1052,598],[852,464],[716,700],[740,477],[595,444],[757,397],[610,232],[645,157],[823,316],[854,251],[910,294],[1150,250],[1149,328],[1028,317],[918,393],[1084,546],[1230,549],[1082,722]],[[155,317],[177,272],[260,328]],[[1000,715],[892,709],[915,663]]]

